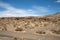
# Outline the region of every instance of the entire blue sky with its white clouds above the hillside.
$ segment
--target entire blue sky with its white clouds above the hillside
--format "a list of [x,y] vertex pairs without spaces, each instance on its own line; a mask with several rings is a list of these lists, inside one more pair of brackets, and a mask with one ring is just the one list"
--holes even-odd
[[60,12],[60,0],[0,0],[0,17],[42,16]]

